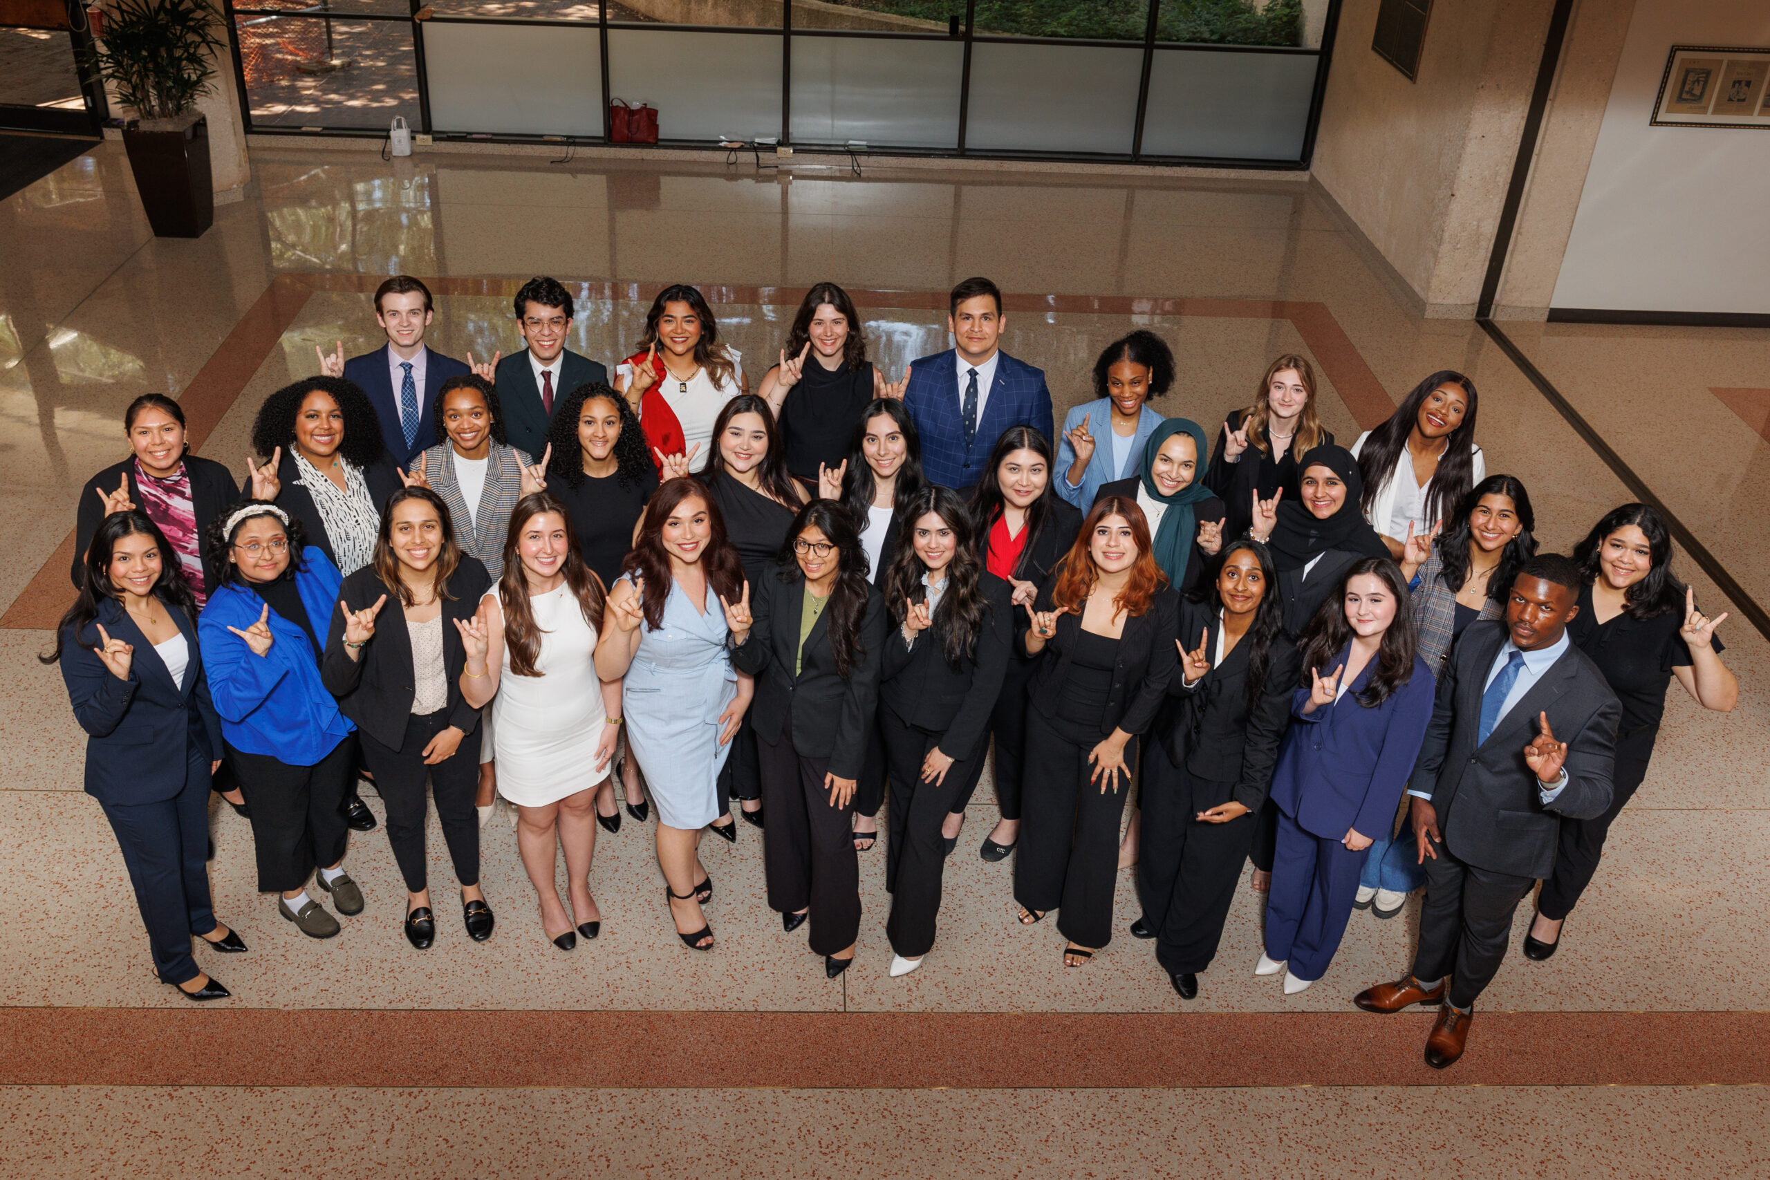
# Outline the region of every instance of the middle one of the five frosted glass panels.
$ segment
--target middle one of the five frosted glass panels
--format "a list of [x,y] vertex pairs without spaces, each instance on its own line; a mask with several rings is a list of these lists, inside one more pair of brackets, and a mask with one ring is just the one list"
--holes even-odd
[[793,142],[958,147],[959,41],[793,39]]

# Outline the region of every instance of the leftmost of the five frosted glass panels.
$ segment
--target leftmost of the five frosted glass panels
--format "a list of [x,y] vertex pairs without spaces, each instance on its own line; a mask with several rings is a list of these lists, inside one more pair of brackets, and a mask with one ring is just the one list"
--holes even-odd
[[425,21],[430,126],[492,134],[602,134],[595,25]]

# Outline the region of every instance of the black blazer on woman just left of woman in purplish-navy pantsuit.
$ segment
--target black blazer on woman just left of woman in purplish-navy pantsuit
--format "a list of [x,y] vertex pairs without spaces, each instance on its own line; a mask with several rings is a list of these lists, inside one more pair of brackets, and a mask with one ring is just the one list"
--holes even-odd
[[[1205,655],[1209,655],[1221,628],[1216,610],[1207,603],[1181,603],[1181,644],[1188,651],[1195,651],[1197,635],[1207,633]],[[1175,766],[1184,766],[1195,778],[1234,784],[1228,800],[1257,812],[1273,785],[1278,743],[1290,725],[1290,693],[1297,688],[1303,655],[1283,635],[1273,640],[1266,653],[1260,699],[1250,709],[1251,651],[1253,639],[1243,635],[1223,663],[1191,686],[1175,669],[1168,681],[1168,702],[1156,716],[1150,732],[1158,736]]]

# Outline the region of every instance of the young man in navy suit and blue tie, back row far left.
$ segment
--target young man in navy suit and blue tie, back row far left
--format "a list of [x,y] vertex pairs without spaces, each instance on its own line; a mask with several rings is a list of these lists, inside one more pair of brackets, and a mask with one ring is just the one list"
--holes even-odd
[[[437,389],[450,377],[466,377],[467,364],[425,345],[425,329],[435,318],[430,288],[411,274],[395,274],[375,288],[375,322],[388,343],[373,352],[343,359],[320,352],[320,372],[343,377],[368,395],[381,421],[381,437],[393,462],[405,471],[427,446],[435,446]],[[473,361],[473,354],[467,356]]]

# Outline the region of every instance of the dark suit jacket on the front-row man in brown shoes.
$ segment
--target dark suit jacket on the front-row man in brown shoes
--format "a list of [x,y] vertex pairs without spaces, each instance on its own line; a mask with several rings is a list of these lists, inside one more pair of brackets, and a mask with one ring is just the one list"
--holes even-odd
[[[1476,747],[1487,672],[1504,644],[1506,626],[1497,619],[1471,623],[1457,640],[1407,789],[1432,794],[1439,831],[1457,860],[1490,872],[1547,877],[1561,816],[1595,819],[1611,805],[1623,706],[1598,665],[1570,644]],[[1549,715],[1556,739],[1566,743],[1566,785],[1547,805],[1524,761],[1524,747],[1540,732],[1538,713]]]

